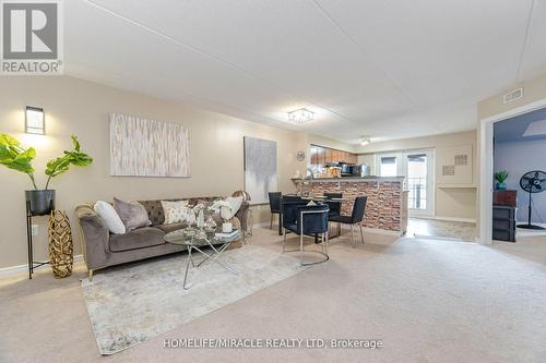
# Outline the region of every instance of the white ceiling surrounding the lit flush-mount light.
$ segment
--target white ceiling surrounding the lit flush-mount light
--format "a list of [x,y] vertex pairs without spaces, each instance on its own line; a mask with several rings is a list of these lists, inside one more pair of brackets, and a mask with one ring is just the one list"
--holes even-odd
[[546,73],[546,0],[63,3],[67,74],[351,143],[474,129]]

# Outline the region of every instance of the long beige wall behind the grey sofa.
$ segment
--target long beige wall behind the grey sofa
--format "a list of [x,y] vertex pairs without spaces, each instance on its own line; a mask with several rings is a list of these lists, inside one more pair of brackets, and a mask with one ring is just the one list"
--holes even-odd
[[[45,109],[47,135],[23,133],[24,107]],[[192,177],[126,178],[109,177],[108,113],[120,112],[190,128]],[[278,186],[294,191],[289,178],[305,162],[296,153],[307,148],[308,136],[266,125],[204,111],[182,104],[155,99],[73,77],[2,77],[0,82],[1,133],[11,134],[37,150],[36,179],[44,185],[47,160],[71,148],[70,135],[76,134],[95,161],[86,168],[73,167],[52,181],[57,207],[69,211],[75,237],[75,253],[81,253],[73,207],[82,202],[106,199],[152,199],[177,196],[229,195],[244,187],[242,137],[245,135],[277,142]],[[24,190],[31,184],[25,174],[0,167],[0,268],[26,263]],[[254,221],[269,218],[269,206],[254,207]],[[36,218],[36,257],[46,257],[46,218]]]

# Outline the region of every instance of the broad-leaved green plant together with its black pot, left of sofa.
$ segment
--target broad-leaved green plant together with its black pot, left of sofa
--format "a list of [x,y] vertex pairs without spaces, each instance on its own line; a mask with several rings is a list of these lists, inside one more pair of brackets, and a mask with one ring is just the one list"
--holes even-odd
[[0,134],[0,164],[23,172],[28,176],[34,186],[33,190],[25,191],[25,197],[29,203],[33,216],[44,216],[55,209],[55,190],[50,190],[49,182],[51,178],[58,177],[70,169],[71,165],[87,166],[93,162],[93,158],[81,150],[78,137],[72,135],[73,150],[64,150],[64,155],[50,160],[47,164],[45,173],[48,176],[46,187],[40,190],[34,180],[34,168],[32,161],[36,157],[36,150],[33,147],[25,148],[21,143],[10,135]]

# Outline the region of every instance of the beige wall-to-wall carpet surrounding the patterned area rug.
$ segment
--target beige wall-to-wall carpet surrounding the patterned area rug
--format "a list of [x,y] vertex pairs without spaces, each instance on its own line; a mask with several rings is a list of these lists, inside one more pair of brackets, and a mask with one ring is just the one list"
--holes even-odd
[[[347,238],[330,262],[103,358],[78,278],[0,279],[0,362],[544,362],[546,238],[515,244]],[[253,243],[281,251],[257,229]],[[296,240],[292,240],[296,243]],[[381,350],[164,349],[181,338],[382,339]]]

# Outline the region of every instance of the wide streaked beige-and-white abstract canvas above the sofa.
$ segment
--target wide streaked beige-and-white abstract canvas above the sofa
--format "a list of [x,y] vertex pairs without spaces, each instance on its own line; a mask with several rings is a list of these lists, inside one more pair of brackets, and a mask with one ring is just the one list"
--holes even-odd
[[188,128],[110,113],[110,174],[190,177]]

